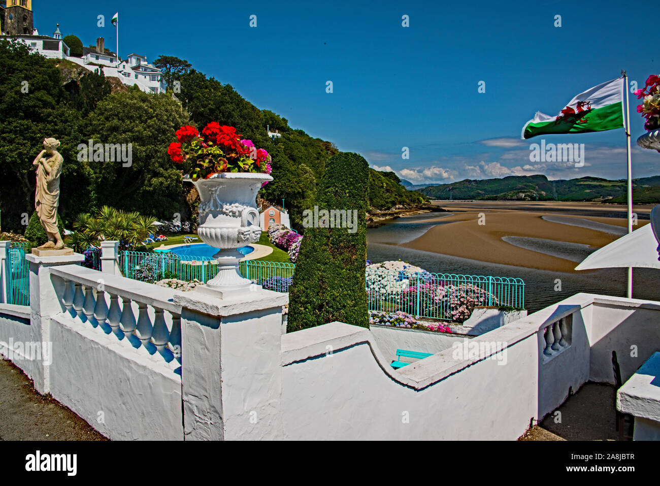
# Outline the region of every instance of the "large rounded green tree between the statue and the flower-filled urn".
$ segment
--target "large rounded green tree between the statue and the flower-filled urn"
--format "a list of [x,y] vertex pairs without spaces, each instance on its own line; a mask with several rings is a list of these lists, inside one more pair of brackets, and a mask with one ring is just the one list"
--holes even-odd
[[165,219],[187,215],[181,173],[167,155],[174,132],[187,123],[181,105],[167,94],[140,90],[111,94],[88,118],[89,139],[119,144],[129,162],[84,162],[91,172],[96,201],[92,207],[112,205]]

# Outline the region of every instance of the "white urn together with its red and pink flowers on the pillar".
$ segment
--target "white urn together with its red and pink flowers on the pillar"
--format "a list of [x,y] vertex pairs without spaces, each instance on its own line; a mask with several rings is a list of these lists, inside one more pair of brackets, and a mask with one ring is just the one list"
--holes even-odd
[[261,236],[255,199],[260,188],[273,180],[271,156],[242,139],[235,127],[212,121],[201,133],[186,125],[176,131],[177,142],[168,155],[181,164],[185,182],[199,193],[199,226],[203,242],[218,248],[218,273],[195,290],[211,290],[222,297],[242,293],[251,281],[239,269],[243,255],[238,248],[256,243]]

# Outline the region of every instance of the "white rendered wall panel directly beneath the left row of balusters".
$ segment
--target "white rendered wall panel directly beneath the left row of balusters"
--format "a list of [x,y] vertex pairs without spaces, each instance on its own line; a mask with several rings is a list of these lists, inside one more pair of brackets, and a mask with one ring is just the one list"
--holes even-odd
[[50,392],[112,440],[183,440],[181,377],[160,355],[59,314]]

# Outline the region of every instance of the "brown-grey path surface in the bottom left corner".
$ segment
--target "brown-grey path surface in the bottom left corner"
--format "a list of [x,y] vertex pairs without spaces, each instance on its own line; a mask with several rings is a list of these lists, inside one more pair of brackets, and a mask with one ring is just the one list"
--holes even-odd
[[0,359],[0,440],[107,440],[59,401],[41,396],[19,368]]

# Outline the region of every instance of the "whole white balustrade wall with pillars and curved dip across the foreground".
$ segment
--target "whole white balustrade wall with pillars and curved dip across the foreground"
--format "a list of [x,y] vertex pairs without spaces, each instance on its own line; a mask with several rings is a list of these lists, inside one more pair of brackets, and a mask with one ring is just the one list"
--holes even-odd
[[[612,351],[626,380],[659,350],[659,302],[578,294],[477,337],[431,336],[411,351],[434,355],[394,370],[426,333],[282,335],[284,294],[125,279],[106,248],[105,272],[28,255],[31,306],[0,304],[0,353],[112,439],[513,440],[588,380],[613,382]],[[51,353],[17,357],[17,341]]]

